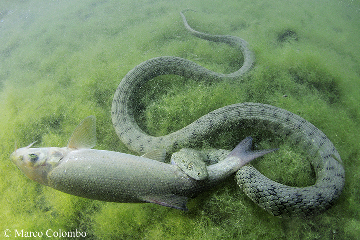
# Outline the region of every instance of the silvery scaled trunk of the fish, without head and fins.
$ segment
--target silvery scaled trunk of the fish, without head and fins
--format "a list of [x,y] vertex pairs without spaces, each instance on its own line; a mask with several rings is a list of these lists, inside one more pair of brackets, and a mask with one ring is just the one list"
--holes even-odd
[[62,161],[48,174],[48,186],[95,200],[140,203],[169,193],[191,198],[204,188],[176,165],[119,152],[80,149]]

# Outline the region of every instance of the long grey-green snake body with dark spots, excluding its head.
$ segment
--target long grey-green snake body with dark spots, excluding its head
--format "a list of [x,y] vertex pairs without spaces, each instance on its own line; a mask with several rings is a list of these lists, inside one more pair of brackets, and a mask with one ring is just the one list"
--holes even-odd
[[[111,117],[120,140],[132,151],[144,154],[155,148],[175,152],[193,147],[223,129],[252,128],[286,138],[309,156],[315,172],[315,184],[291,187],[277,183],[256,170],[250,163],[235,173],[242,191],[259,207],[280,218],[299,218],[322,213],[334,205],[345,183],[345,172],[338,151],[329,138],[304,118],[279,107],[254,103],[235,103],[216,109],[184,128],[164,136],[151,136],[136,123],[133,106],[136,90],[161,75],[179,75],[198,81],[236,79],[248,73],[255,57],[249,44],[236,36],[210,35],[193,30],[180,12],[185,29],[192,35],[222,42],[241,51],[244,62],[231,74],[208,70],[193,61],[162,56],[146,60],[130,70],[119,83],[111,107]],[[205,158],[221,160],[230,151],[205,150]]]

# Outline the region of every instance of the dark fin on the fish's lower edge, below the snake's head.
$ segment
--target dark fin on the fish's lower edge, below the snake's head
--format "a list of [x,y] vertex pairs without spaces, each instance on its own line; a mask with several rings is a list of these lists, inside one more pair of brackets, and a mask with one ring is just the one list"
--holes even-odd
[[163,196],[148,196],[144,198],[143,201],[149,203],[155,203],[161,206],[167,206],[183,211],[189,210],[186,207],[186,203],[188,202],[188,198],[186,196],[177,196],[174,194],[166,194]]

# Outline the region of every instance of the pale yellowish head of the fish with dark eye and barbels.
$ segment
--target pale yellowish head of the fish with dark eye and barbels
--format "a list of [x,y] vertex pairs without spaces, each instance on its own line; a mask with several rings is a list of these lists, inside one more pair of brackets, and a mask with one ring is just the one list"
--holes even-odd
[[64,148],[30,148],[16,149],[10,159],[31,180],[47,185],[47,174],[56,167],[66,154]]

